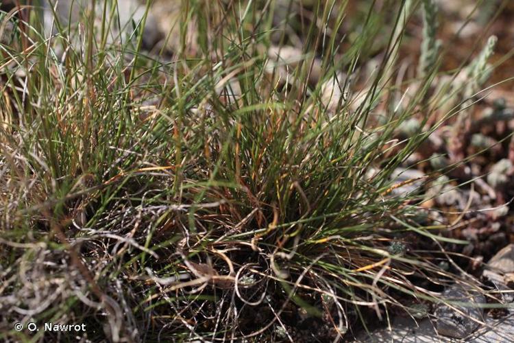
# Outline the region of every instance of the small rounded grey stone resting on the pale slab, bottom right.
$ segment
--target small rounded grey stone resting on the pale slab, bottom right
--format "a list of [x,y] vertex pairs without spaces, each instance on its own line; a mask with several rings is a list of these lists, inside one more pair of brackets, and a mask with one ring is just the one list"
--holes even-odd
[[439,334],[465,338],[478,328],[479,322],[483,320],[483,309],[472,306],[485,303],[485,296],[460,285],[454,285],[446,289],[441,297],[449,302],[469,303],[469,306],[439,304],[435,310],[436,329]]

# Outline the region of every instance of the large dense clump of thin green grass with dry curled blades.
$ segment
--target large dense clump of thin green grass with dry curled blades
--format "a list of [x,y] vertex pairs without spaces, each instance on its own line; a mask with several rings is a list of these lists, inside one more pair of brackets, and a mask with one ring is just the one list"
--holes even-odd
[[[437,86],[393,83],[418,8],[394,3],[356,23],[347,1],[290,1],[281,21],[280,1],[184,1],[171,58],[141,51],[145,19],[110,29],[102,1],[53,36],[3,16],[0,337],[62,339],[12,329],[34,321],[93,341],[341,340],[432,299],[415,279],[451,275],[409,248],[435,235],[402,188],[432,176],[392,176],[464,99],[440,113]],[[424,81],[437,51],[428,27]]]

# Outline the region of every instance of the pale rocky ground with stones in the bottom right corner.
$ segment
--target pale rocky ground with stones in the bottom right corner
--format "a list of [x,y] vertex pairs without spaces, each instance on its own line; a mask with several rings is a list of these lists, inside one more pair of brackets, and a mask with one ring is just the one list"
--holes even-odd
[[514,244],[500,250],[480,278],[469,278],[480,286],[451,285],[441,292],[433,314],[397,316],[391,327],[361,333],[356,342],[512,342]]

